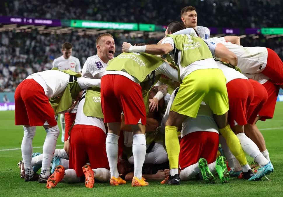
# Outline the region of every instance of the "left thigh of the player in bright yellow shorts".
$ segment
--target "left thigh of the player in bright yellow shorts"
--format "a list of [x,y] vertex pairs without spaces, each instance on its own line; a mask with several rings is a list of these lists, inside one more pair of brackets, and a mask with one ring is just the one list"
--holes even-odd
[[189,117],[197,116],[200,103],[209,91],[207,78],[202,78],[204,74],[208,75],[206,69],[195,70],[184,78],[170,111]]

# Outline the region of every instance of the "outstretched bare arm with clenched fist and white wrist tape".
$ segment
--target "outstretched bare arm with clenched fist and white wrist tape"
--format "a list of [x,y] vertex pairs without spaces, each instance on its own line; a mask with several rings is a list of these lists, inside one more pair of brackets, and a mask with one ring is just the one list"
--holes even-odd
[[162,45],[150,44],[145,46],[132,46],[130,43],[123,43],[123,52],[131,53],[149,53],[152,55],[165,55],[170,53],[173,50],[173,46],[169,43],[165,43]]

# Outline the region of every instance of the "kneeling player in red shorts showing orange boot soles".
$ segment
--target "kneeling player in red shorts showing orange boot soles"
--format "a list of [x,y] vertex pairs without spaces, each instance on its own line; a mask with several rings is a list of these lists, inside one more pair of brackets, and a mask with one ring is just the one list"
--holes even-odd
[[[85,179],[85,186],[88,188],[93,188],[94,178],[101,182],[108,182],[110,171],[105,149],[106,128],[103,122],[99,89],[83,91],[70,136],[69,169],[65,170],[62,165],[59,165],[48,179],[46,187],[53,188],[62,179],[68,183]],[[88,161],[93,170],[86,165]]]

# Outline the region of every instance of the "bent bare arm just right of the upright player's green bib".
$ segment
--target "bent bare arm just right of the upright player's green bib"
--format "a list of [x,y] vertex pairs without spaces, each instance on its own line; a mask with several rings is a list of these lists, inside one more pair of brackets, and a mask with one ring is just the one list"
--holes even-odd
[[233,66],[238,65],[237,56],[233,52],[229,51],[228,48],[224,46],[222,43],[218,43],[216,45],[214,53],[216,58],[225,58],[229,61],[231,65]]

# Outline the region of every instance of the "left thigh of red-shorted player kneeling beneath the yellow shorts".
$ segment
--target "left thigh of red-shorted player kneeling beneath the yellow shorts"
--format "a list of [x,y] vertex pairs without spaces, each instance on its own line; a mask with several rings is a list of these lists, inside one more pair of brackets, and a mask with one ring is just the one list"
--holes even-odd
[[193,165],[200,159],[204,141],[200,138],[201,132],[192,132],[181,138],[179,164],[181,169]]

